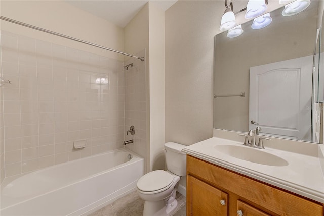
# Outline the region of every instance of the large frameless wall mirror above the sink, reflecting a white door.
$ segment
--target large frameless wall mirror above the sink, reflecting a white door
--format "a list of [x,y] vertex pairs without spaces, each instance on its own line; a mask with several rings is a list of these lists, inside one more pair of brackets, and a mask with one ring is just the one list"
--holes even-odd
[[247,132],[259,126],[262,135],[319,142],[312,111],[319,2],[293,16],[276,9],[262,29],[248,21],[235,38],[227,31],[216,35],[214,128]]

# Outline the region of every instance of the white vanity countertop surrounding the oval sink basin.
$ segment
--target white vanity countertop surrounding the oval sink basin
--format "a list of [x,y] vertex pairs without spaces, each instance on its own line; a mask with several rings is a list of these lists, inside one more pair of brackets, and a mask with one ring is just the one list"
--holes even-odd
[[[273,140],[271,141],[273,142]],[[277,155],[288,161],[287,166],[269,166],[252,163],[221,153],[215,145],[242,145],[228,139],[212,137],[210,139],[187,146],[182,151],[194,157],[209,161],[212,164],[227,168],[240,174],[269,183],[304,197],[324,203],[324,175],[318,154],[290,152],[277,148],[256,149]]]

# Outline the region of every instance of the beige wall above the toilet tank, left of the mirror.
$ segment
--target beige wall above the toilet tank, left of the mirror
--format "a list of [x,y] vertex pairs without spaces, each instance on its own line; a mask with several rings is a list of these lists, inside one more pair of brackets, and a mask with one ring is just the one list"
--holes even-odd
[[166,142],[213,136],[214,36],[221,1],[178,1],[166,11]]

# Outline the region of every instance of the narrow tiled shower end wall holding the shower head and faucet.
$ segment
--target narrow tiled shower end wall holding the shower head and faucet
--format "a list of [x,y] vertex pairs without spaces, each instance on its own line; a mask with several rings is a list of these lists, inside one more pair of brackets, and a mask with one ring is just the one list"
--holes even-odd
[[[145,50],[136,54],[145,56]],[[133,139],[134,143],[127,145],[131,151],[146,158],[146,70],[141,61],[130,59],[125,65],[133,63],[133,67],[125,70],[125,131],[131,125],[135,127],[135,135],[125,136],[125,140]]]

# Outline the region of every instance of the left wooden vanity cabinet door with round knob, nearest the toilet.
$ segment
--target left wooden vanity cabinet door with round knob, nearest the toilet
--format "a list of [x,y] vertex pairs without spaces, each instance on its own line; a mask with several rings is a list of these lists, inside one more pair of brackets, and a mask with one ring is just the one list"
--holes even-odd
[[187,176],[188,216],[226,216],[227,208],[227,193],[190,175]]

